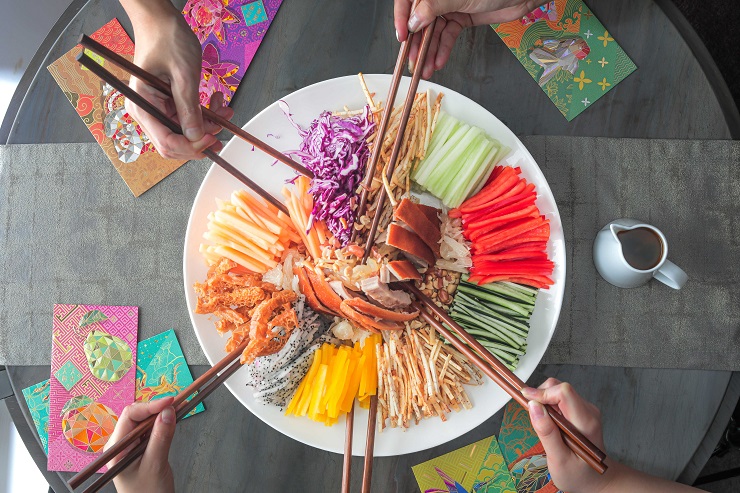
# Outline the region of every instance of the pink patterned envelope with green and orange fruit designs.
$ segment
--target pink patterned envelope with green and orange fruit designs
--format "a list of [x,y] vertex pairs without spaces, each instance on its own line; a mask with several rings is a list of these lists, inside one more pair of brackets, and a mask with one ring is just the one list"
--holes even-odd
[[135,306],[54,305],[50,471],[92,462],[134,401],[138,323]]

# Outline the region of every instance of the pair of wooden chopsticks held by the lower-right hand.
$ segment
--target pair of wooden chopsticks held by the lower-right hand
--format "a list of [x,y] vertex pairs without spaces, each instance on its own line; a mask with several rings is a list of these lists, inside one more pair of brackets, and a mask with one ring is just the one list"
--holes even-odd
[[[511,370],[506,368],[495,356],[490,354],[473,336],[455,322],[443,309],[438,307],[428,296],[421,292],[412,283],[404,282],[403,288],[412,293],[418,301],[414,306],[419,310],[421,316],[430,325],[433,325],[442,336],[452,344],[458,351],[463,353],[478,368],[504,389],[514,400],[523,407],[527,407],[528,400],[521,394],[521,389],[526,384]],[[440,322],[433,315],[439,317]],[[447,325],[454,330],[453,335],[445,327]],[[472,348],[471,348],[472,347]],[[474,350],[475,351],[474,351]],[[477,352],[476,352],[477,351]],[[594,445],[588,438],[579,432],[565,417],[552,406],[545,406],[555,424],[563,433],[563,440],[581,459],[593,467],[597,472],[603,474],[607,467],[603,464],[606,454]]]

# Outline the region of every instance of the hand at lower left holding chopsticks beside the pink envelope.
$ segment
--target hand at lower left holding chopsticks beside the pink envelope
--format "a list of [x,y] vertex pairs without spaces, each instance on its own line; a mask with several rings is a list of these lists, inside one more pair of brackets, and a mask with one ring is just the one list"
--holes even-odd
[[[173,397],[165,397],[151,402],[137,402],[126,406],[118,418],[116,428],[105,444],[105,450],[130,433],[140,421],[153,414],[158,415],[144,454],[113,478],[118,493],[175,491],[175,480],[168,460],[172,437],[175,435],[173,400]],[[133,445],[111,459],[108,467],[113,467],[131,448]]]

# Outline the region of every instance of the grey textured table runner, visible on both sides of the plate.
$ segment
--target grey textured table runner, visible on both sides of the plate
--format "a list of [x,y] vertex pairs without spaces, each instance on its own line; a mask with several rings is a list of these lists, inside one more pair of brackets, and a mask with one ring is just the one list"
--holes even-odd
[[[566,296],[545,362],[740,369],[740,143],[523,139],[560,207]],[[0,364],[48,364],[53,303],[140,307],[139,336],[174,328],[206,364],[183,296],[182,251],[207,162],[138,199],[96,144],[0,147]],[[596,232],[636,217],[661,228],[683,290],[622,290],[591,260]]]

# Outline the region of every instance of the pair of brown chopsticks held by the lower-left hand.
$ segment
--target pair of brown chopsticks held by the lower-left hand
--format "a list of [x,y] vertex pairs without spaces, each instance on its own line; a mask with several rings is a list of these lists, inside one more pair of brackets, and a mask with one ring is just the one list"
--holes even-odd
[[[175,396],[172,406],[175,408],[175,415],[178,422],[187,416],[190,411],[195,409],[198,404],[203,402],[206,397],[208,397],[231,375],[241,368],[242,365],[239,361],[239,357],[241,356],[242,351],[247,347],[248,343],[249,341],[244,341],[238,348],[234,349],[224,359],[213,365],[212,368],[195,379],[193,383],[188,385],[183,391]],[[186,399],[195,392],[197,392],[197,394],[195,394],[191,400],[187,401]],[[108,461],[116,457],[128,447],[135,445],[133,449],[127,452],[126,455],[116,463],[116,465],[108,469],[102,476],[85,488],[83,493],[94,493],[108,484],[108,482],[110,482],[118,473],[126,469],[144,453],[144,450],[146,450],[149,443],[149,435],[156,419],[157,415],[153,415],[140,422],[136,428],[131,430],[130,433],[122,437],[108,450],[103,452],[82,471],[74,475],[67,482],[69,487],[73,490],[79,488]]]

